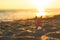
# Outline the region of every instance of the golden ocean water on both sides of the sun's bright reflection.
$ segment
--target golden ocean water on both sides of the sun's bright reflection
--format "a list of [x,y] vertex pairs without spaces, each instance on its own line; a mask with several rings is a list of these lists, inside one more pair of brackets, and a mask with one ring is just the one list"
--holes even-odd
[[[51,9],[52,10],[52,9]],[[18,20],[34,18],[38,12],[31,10],[0,10],[0,20]],[[45,12],[46,16],[60,15],[60,12]]]

